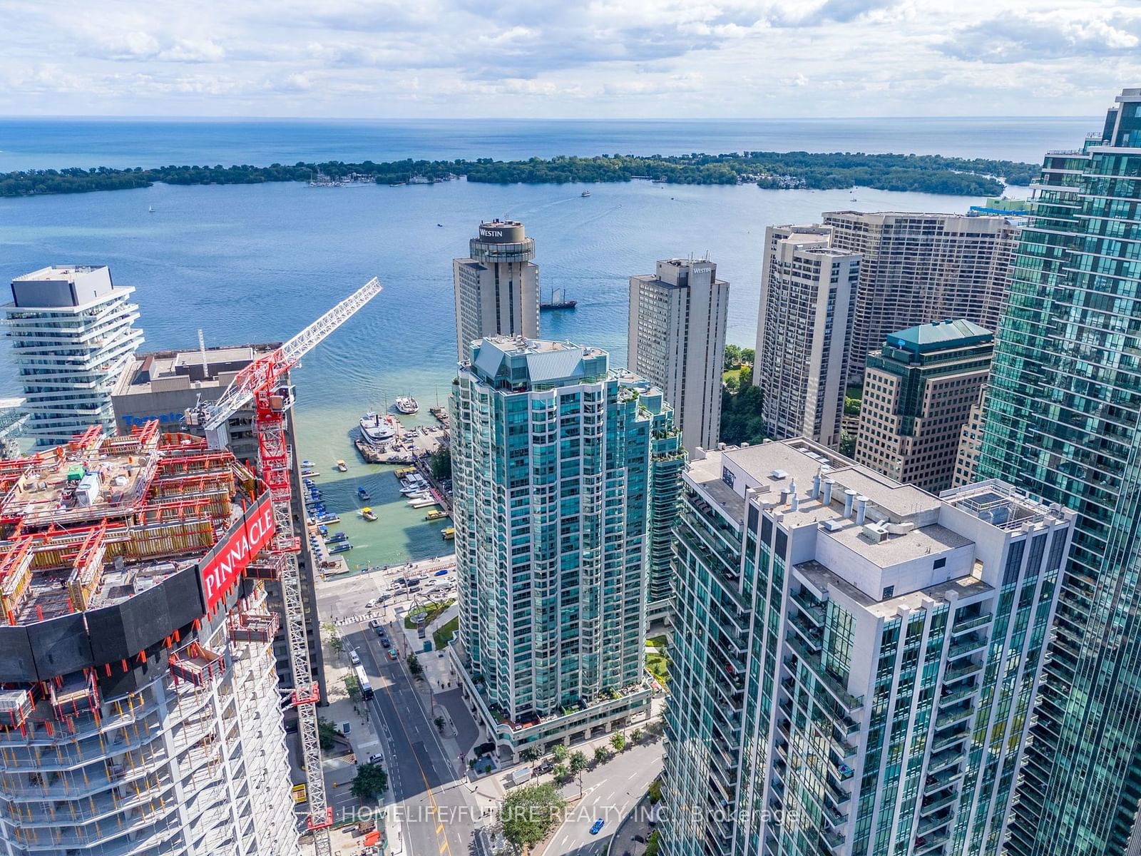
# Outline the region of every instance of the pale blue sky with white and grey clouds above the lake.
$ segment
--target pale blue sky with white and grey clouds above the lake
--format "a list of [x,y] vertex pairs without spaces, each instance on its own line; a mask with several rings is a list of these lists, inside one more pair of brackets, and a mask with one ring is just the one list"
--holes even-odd
[[0,114],[1094,115],[1138,0],[0,0]]

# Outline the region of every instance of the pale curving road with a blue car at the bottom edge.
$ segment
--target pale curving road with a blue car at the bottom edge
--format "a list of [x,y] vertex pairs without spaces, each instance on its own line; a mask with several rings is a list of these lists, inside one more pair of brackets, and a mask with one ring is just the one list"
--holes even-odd
[[[662,772],[662,741],[628,749],[612,761],[583,773],[583,798],[569,807],[566,822],[555,833],[544,856],[598,856],[602,853],[622,818],[646,793],[649,783]],[[578,783],[563,788],[563,796],[578,794]],[[601,817],[606,824],[597,835],[590,826]],[[612,854],[610,856],[622,856]]]

